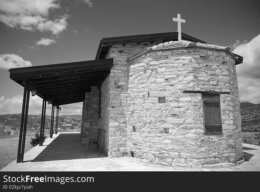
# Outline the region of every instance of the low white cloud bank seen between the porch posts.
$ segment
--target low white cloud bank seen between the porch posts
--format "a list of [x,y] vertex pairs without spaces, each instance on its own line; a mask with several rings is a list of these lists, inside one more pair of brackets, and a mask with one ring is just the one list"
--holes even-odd
[[[22,112],[22,95],[14,95],[6,99],[0,96],[0,114],[15,114]],[[38,97],[30,96],[28,114],[39,115],[42,112],[43,100]],[[46,115],[51,115],[51,105],[46,107]],[[61,105],[59,115],[82,115],[82,102],[69,105]]]

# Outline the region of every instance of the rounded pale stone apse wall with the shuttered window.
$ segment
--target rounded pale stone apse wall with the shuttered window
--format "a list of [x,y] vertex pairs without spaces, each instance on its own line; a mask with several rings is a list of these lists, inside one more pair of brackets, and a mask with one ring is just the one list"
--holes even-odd
[[[187,167],[243,158],[235,59],[230,53],[200,48],[150,51],[129,65],[129,155]],[[202,94],[183,90],[230,92],[220,95],[223,135],[203,134]],[[158,103],[158,97],[165,97],[165,103]]]

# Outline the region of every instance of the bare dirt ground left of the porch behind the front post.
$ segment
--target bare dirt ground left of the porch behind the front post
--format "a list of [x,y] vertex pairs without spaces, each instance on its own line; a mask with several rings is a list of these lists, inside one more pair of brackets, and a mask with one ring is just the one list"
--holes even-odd
[[[30,145],[31,136],[25,139],[25,153],[32,148]],[[0,169],[17,158],[19,137],[0,139]]]

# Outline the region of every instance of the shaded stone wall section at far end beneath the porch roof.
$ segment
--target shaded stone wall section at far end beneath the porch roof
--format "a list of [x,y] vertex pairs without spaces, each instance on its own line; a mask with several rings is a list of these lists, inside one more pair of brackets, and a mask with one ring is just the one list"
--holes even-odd
[[98,135],[98,88],[91,87],[91,92],[86,92],[85,115],[83,123],[82,144],[89,145],[90,138]]

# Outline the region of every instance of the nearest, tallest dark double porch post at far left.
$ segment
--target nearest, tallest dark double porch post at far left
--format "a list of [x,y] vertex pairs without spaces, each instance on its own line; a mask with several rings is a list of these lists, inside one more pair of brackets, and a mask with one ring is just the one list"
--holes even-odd
[[29,100],[30,100],[30,81],[28,81],[28,79],[24,79],[24,85],[25,88],[24,88],[23,103],[22,103],[21,124],[20,124],[20,133],[19,133],[17,161],[16,161],[17,163],[22,163],[24,158],[27,117],[28,117],[28,108],[29,108]]

